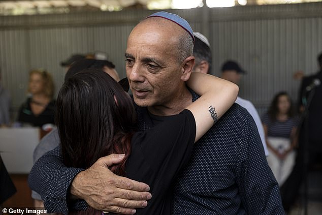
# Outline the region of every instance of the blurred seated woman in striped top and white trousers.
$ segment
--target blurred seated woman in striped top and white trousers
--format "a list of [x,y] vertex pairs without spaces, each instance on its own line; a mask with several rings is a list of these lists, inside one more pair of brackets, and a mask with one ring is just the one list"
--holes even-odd
[[270,155],[267,162],[282,186],[295,162],[298,117],[293,102],[285,92],[278,93],[263,118],[267,148]]

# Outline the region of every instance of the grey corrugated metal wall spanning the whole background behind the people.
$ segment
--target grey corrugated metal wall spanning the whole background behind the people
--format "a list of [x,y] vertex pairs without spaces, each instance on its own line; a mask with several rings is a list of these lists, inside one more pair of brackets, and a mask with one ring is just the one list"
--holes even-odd
[[[234,8],[173,10],[205,34],[213,50],[213,74],[235,59],[248,72],[240,96],[251,100],[260,114],[280,90],[297,97],[296,70],[317,70],[322,51],[322,3]],[[144,10],[0,17],[2,83],[11,92],[13,111],[25,99],[28,71],[44,68],[53,74],[56,91],[65,70],[60,62],[72,53],[104,51],[125,77],[124,51],[131,29]]]

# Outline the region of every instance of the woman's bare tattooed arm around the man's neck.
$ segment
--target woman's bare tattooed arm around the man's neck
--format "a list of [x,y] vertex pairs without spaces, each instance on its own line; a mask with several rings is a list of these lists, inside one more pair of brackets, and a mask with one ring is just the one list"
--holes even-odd
[[230,81],[203,73],[192,73],[187,85],[201,95],[186,107],[196,120],[196,142],[234,104],[239,88]]

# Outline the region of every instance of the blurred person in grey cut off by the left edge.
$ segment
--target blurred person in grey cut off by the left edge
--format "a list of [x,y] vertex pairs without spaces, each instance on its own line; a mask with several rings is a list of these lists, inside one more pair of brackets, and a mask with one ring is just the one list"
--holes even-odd
[[0,127],[9,126],[10,124],[10,104],[11,97],[7,89],[1,84],[1,70],[0,70]]

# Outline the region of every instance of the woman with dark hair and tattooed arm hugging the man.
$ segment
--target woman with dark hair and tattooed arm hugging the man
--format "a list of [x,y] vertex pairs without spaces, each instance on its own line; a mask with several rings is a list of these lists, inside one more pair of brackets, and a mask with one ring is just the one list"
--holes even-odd
[[[150,130],[137,131],[133,101],[109,75],[90,69],[70,77],[57,98],[63,163],[86,169],[110,153],[125,154],[123,162],[111,170],[147,183],[153,196],[136,214],[170,214],[173,178],[187,163],[193,143],[230,108],[238,94],[235,84],[201,73],[192,73],[187,84],[202,95],[196,102]],[[102,211],[88,207],[71,213]]]

